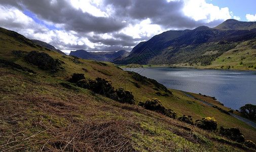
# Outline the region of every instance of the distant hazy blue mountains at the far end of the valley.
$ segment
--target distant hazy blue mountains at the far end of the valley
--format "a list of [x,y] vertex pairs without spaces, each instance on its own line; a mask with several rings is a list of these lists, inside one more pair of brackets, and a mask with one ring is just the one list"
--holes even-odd
[[125,50],[120,50],[118,52],[87,52],[85,50],[77,50],[71,51],[69,55],[77,56],[87,60],[111,62],[114,59],[125,56],[128,53],[129,52]]

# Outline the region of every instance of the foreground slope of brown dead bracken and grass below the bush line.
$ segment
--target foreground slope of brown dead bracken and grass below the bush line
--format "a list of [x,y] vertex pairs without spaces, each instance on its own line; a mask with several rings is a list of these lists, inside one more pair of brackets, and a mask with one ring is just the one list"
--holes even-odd
[[[3,80],[1,150],[243,151],[237,146],[245,148],[215,132],[137,105],[121,104],[69,83],[70,89],[63,88],[61,83],[66,82],[60,79],[6,68],[1,68],[0,77]],[[182,96],[178,91],[173,93]],[[228,143],[221,143],[222,139]]]

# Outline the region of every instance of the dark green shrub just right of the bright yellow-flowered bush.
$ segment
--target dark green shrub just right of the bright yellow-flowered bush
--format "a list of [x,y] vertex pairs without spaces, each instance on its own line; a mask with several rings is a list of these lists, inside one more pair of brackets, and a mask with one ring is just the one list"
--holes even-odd
[[233,141],[244,142],[244,135],[240,132],[238,128],[220,128],[220,134],[230,138]]

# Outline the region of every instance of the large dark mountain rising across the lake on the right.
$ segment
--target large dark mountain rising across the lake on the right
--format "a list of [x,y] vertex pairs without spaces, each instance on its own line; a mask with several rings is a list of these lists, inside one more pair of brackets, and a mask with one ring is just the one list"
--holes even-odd
[[[256,65],[253,57],[256,53],[255,25],[256,22],[227,20],[214,28],[200,26],[193,30],[166,31],[143,42],[142,45],[135,46],[128,57],[120,58],[113,63],[214,67],[213,61],[225,55],[225,52],[238,50],[232,54],[234,60],[229,58],[230,62],[225,61],[223,64],[234,68],[252,67]],[[241,43],[244,45],[241,46]],[[247,61],[243,62],[242,67],[239,51],[245,50],[249,54],[246,55]],[[221,66],[218,64],[214,68]]]

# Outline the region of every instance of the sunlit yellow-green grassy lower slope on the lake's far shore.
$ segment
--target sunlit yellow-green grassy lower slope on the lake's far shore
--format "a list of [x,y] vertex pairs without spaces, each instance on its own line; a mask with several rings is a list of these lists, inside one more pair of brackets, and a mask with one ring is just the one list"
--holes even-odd
[[[220,53],[220,50],[217,48],[208,51],[207,49],[204,50],[204,55],[193,61],[185,60],[184,63],[173,65],[197,68],[256,70],[256,40],[243,41],[233,46],[235,47],[226,50],[226,52],[223,52],[222,55],[215,59],[212,56]],[[210,64],[205,65],[204,63],[207,62]]]

